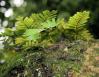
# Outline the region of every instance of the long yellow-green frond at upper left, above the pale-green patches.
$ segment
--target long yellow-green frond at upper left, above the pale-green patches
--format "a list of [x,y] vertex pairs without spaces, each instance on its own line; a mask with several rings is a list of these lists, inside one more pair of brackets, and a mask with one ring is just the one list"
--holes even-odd
[[42,13],[33,13],[30,17],[19,17],[16,22],[16,28],[17,30],[22,30],[22,29],[41,29],[42,28],[42,23],[46,21],[50,21],[55,19],[57,16],[57,11],[43,11]]

